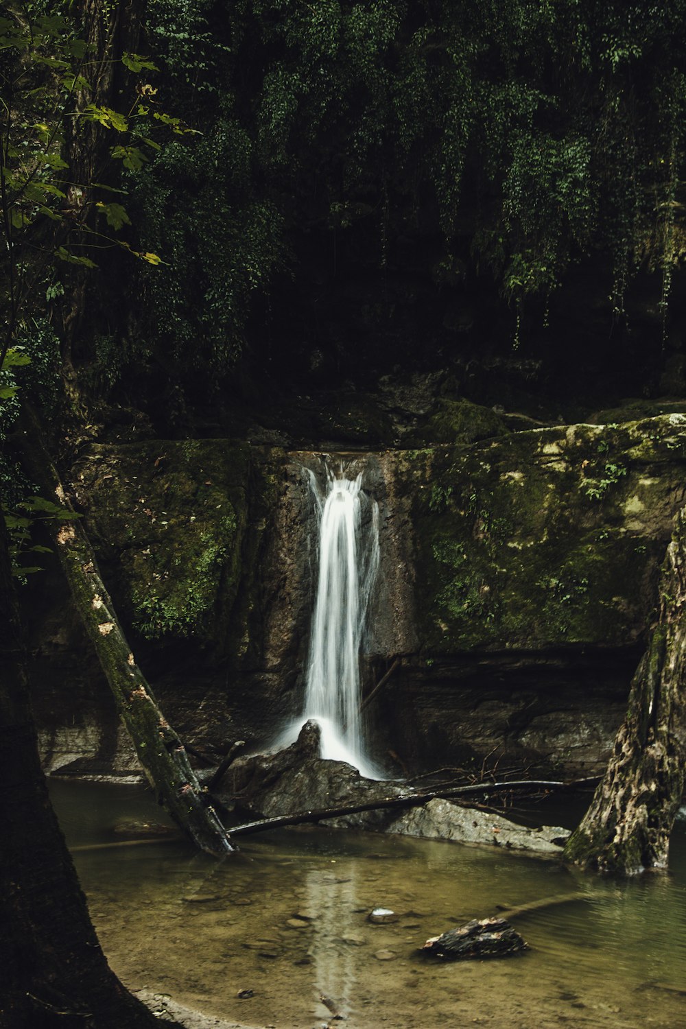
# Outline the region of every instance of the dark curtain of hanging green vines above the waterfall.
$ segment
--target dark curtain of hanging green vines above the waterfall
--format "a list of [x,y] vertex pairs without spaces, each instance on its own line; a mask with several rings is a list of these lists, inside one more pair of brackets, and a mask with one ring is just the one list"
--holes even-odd
[[168,351],[236,360],[275,274],[397,270],[428,239],[438,286],[488,274],[515,307],[545,304],[599,253],[615,317],[642,268],[666,305],[683,0],[149,0],[147,17],[164,88],[204,133],[139,191],[170,263],[164,288],[147,277],[146,338]]

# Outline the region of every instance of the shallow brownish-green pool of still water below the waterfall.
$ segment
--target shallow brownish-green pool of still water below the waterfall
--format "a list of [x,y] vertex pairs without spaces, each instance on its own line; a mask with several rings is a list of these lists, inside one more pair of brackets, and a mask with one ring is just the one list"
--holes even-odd
[[[74,848],[120,840],[121,820],[163,820],[143,787],[51,791]],[[565,813],[545,820],[564,824]],[[131,989],[245,1025],[318,1029],[333,1013],[347,1021],[331,1024],[350,1029],[686,1025],[684,822],[671,875],[627,882],[497,848],[325,828],[249,838],[222,860],[181,842],[74,856],[105,953]],[[531,947],[520,956],[443,964],[417,953],[498,904],[574,890],[578,900],[513,920]],[[376,907],[398,921],[373,925]]]

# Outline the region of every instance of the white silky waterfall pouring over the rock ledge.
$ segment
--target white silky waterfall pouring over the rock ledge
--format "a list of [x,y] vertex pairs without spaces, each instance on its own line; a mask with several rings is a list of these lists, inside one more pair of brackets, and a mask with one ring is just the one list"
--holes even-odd
[[321,725],[322,757],[349,761],[373,778],[360,725],[359,655],[378,567],[378,505],[363,492],[362,472],[350,478],[348,470],[341,466],[336,475],[327,467],[325,497],[309,471],[320,530],[303,714]]

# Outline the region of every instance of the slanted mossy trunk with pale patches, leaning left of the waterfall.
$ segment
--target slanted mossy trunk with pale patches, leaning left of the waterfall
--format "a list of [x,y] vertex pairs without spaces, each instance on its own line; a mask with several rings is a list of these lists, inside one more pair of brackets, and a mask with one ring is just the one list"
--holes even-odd
[[[57,468],[42,446],[38,422],[26,403],[20,426],[30,474],[72,513]],[[52,535],[71,596],[158,803],[201,850],[210,854],[231,851],[228,833],[208,803],[181,740],[164,717],[136,664],[80,520],[62,524],[57,521]]]

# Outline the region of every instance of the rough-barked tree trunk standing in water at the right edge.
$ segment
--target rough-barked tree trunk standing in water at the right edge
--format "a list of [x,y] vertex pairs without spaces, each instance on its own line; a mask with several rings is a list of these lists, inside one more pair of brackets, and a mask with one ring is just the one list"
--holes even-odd
[[686,760],[686,507],[660,578],[659,620],[631,682],[605,777],[565,848],[601,872],[664,868]]

